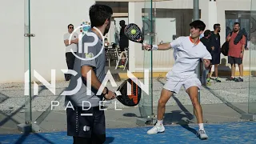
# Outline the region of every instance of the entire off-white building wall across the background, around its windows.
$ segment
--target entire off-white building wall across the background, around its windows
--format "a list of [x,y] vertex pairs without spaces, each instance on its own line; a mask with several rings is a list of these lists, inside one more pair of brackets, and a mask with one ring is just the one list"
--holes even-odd
[[[103,0],[102,0],[103,1]],[[114,2],[104,0],[105,2]],[[145,1],[126,0],[120,2],[129,3],[129,22],[135,22],[142,26],[142,8]],[[31,63],[32,70],[36,70],[43,78],[50,81],[51,70],[56,70],[56,80],[64,80],[62,69],[66,69],[65,46],[63,34],[67,32],[67,25],[73,23],[79,26],[81,22],[89,20],[89,7],[94,0],[77,0],[70,4],[67,0],[30,1],[31,9]],[[134,3],[136,2],[136,3]],[[214,20],[222,25],[222,43],[225,41],[225,10],[250,10],[250,0],[217,0],[216,4],[210,4],[209,0],[200,0],[201,19],[206,22],[206,29],[212,30]],[[61,5],[60,5],[61,3]],[[154,3],[154,2],[153,2]],[[148,6],[148,5],[147,5]],[[157,8],[164,9],[193,9],[193,0],[173,0],[156,2]],[[216,6],[217,16],[210,14],[209,10]],[[0,5],[2,27],[1,34],[1,77],[0,83],[24,82],[25,58],[24,58],[24,1],[4,1]],[[166,38],[171,34],[166,34]],[[130,71],[143,70],[143,59],[149,56],[149,52],[142,50],[141,44],[130,42]],[[154,52],[154,71],[168,71],[174,61],[172,50]],[[249,51],[245,54],[245,70],[249,66]],[[226,58],[226,57],[222,57]],[[228,66],[228,65],[227,65]],[[34,77],[32,78],[35,79]]]

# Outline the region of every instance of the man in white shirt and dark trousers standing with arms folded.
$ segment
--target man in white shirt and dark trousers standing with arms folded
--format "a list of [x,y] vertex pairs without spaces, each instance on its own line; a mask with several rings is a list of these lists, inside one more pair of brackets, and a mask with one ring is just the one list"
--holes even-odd
[[[75,54],[78,50],[78,45],[77,45],[78,34],[75,32],[72,34],[72,32],[74,31],[74,26],[72,24],[67,26],[67,28],[68,28],[68,33],[64,34],[64,43],[66,46],[66,65],[69,70],[73,70],[75,57],[74,57],[74,54],[71,53],[71,50],[73,50]],[[72,34],[72,37],[70,39],[71,34]],[[66,81],[69,81],[70,78],[71,78],[71,74],[65,74]]]

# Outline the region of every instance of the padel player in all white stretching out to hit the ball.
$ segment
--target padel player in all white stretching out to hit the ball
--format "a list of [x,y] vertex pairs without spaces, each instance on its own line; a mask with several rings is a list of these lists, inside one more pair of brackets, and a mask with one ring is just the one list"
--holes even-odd
[[168,50],[174,49],[175,63],[166,74],[166,84],[163,86],[161,97],[158,101],[158,122],[155,126],[147,131],[147,134],[157,134],[165,131],[162,120],[165,114],[166,102],[170,97],[184,86],[186,93],[189,94],[191,102],[194,106],[194,114],[198,119],[198,137],[207,139],[206,131],[203,127],[202,107],[198,102],[198,88],[201,87],[201,82],[195,74],[195,69],[200,60],[204,62],[206,69],[209,69],[211,55],[206,49],[206,46],[200,42],[200,34],[205,30],[204,22],[197,20],[190,23],[190,36],[179,37],[174,42],[161,45],[145,45],[146,50]]

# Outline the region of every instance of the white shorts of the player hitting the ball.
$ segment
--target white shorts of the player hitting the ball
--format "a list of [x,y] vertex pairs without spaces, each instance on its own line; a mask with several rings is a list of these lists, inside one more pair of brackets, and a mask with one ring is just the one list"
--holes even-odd
[[185,90],[187,90],[191,86],[198,86],[198,88],[200,89],[202,84],[197,78],[196,74],[193,74],[191,76],[185,76],[182,78],[180,78],[180,76],[178,76],[177,74],[169,74],[166,79],[166,84],[165,86],[163,86],[163,88],[178,94],[178,91],[181,89],[182,86]]

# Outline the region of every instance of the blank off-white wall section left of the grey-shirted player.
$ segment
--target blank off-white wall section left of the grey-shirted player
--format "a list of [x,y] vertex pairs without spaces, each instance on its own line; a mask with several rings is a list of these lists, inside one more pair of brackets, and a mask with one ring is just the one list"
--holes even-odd
[[[31,70],[36,70],[50,81],[51,70],[56,80],[64,80],[62,69],[67,69],[63,35],[67,26],[74,27],[89,20],[89,8],[94,0],[30,1]],[[1,1],[1,77],[0,83],[24,82],[28,61],[24,46],[24,1]],[[25,62],[26,61],[26,62]],[[33,73],[34,74],[34,73]],[[36,80],[32,77],[33,80]]]

